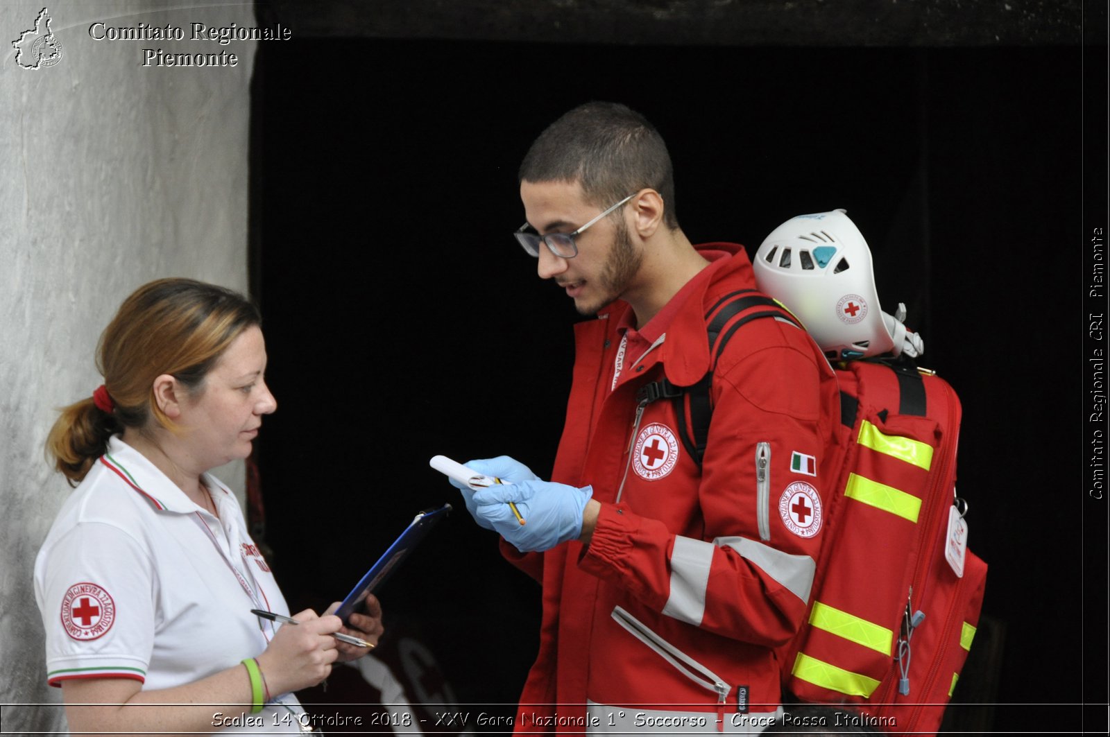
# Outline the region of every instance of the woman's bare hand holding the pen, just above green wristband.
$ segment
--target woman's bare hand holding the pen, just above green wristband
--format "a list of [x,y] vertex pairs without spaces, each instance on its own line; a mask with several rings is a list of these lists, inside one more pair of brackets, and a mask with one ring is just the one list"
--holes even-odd
[[339,617],[319,617],[312,609],[305,609],[293,618],[300,624],[279,627],[258,657],[271,696],[315,686],[327,678],[332,663],[339,657],[337,642],[331,636],[343,625]]

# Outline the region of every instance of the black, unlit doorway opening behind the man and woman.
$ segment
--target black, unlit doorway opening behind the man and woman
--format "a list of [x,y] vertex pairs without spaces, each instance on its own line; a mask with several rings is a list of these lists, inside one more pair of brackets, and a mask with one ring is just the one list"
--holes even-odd
[[[667,140],[695,242],[754,252],[793,215],[846,208],[884,307],[907,304],[922,365],[960,394],[958,488],[1001,660],[956,699],[1009,705],[999,731],[1084,686],[1103,700],[1101,657],[1083,680],[1106,633],[1080,628],[1080,368],[1059,360],[1082,330],[1081,84],[1078,47],[260,44],[253,277],[281,411],[259,466],[291,605],[341,597],[415,512],[456,504],[382,590],[386,626],[422,637],[458,701],[515,701],[538,588],[427,461],[549,473],[579,317],[509,238],[515,172],[558,114],[617,100]],[[1050,718],[1079,729],[1076,709]]]

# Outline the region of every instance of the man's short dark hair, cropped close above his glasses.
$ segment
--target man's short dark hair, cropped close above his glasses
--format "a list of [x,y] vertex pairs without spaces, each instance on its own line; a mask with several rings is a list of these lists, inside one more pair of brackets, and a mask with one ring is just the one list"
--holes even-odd
[[664,222],[678,228],[667,145],[647,119],[616,102],[587,102],[548,125],[524,157],[519,180],[577,181],[598,208],[650,188],[663,196]]

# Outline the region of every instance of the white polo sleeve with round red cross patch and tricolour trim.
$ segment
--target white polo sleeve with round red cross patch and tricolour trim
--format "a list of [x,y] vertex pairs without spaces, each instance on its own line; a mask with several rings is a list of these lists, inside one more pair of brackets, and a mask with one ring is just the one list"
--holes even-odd
[[40,557],[36,594],[51,686],[75,678],[145,682],[154,643],[148,551],[111,524],[83,522]]

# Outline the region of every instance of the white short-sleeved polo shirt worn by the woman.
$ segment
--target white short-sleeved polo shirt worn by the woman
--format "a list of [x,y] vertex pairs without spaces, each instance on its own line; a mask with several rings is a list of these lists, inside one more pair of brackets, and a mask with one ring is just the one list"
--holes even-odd
[[[235,496],[205,474],[220,517],[194,504],[119,437],[65,501],[34,562],[51,686],[133,678],[144,690],[181,686],[261,654],[289,614],[246,532]],[[246,680],[243,668],[243,679]],[[232,733],[300,733],[292,694],[250,718],[213,707]]]

